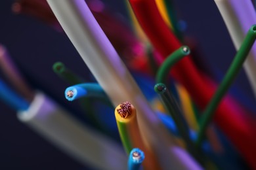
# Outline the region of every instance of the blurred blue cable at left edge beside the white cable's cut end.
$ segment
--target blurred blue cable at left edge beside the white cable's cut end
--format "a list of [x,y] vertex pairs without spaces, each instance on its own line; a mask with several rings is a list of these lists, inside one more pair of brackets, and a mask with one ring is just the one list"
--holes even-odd
[[17,111],[28,110],[28,107],[30,107],[30,104],[24,98],[13,92],[3,80],[0,80],[0,99]]

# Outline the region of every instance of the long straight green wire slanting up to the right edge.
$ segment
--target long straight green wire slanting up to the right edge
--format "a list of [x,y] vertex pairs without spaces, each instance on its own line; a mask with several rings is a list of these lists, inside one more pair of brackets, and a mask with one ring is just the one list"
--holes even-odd
[[251,50],[255,39],[256,25],[252,25],[244,41],[242,42],[242,45],[240,46],[240,49],[236,53],[236,56],[234,57],[230,67],[228,68],[228,71],[226,72],[223,81],[219,85],[217,91],[215,92],[215,94],[211,98],[211,101],[209,101],[209,104],[203,112],[202,118],[200,119],[200,129],[198,131],[198,137],[196,139],[196,146],[198,148],[203,141],[205,131],[208,124],[211,122],[211,118],[213,118],[215,110],[217,109],[219,103],[221,103],[221,99],[223,99],[223,96],[228,91],[228,88],[230,88],[232,82],[236,78],[236,75],[238,75],[240,69],[242,68],[242,65],[247,55],[249,54],[249,51]]

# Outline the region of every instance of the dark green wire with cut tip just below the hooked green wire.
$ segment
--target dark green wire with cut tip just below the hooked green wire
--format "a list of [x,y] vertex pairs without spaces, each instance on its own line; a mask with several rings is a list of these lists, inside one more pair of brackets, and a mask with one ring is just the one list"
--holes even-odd
[[194,147],[194,143],[190,139],[190,129],[188,127],[188,124],[186,123],[185,118],[183,117],[184,114],[182,114],[181,109],[177,101],[175,100],[175,97],[171,95],[171,92],[169,92],[165,84],[156,84],[154,86],[154,90],[160,95],[165,109],[173,118],[173,121],[175,122],[176,127],[179,131],[179,135],[186,143],[188,151],[194,156],[194,158],[196,158],[196,160],[198,160],[198,162],[202,163],[203,165],[204,160],[202,156],[200,156],[200,152],[196,150],[196,148]]

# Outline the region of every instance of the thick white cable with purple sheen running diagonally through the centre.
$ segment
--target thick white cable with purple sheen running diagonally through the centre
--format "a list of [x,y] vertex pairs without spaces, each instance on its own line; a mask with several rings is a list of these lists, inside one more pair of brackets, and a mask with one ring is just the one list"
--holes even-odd
[[[47,2],[113,105],[130,101],[135,106],[142,137],[146,139],[146,145],[156,154],[161,167],[189,169],[186,159],[178,158],[172,150],[169,150],[174,146],[173,139],[140,92],[85,1],[47,0]],[[192,158],[188,156],[187,159]],[[196,164],[195,161],[193,162]]]

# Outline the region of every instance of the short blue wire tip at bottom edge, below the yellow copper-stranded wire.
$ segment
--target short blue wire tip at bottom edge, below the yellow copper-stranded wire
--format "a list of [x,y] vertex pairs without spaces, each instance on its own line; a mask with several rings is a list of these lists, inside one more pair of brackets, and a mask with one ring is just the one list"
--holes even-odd
[[131,150],[128,160],[128,170],[139,170],[141,168],[141,163],[144,160],[144,152],[139,148],[133,148]]

